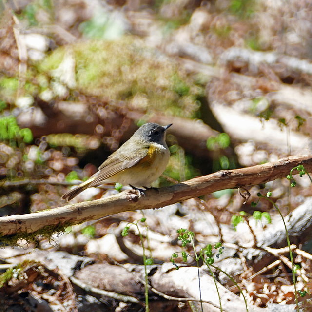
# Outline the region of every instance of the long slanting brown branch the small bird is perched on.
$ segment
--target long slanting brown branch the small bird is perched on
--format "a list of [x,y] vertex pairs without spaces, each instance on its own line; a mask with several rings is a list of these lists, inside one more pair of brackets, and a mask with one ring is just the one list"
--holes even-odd
[[137,197],[136,191],[126,190],[107,198],[34,214],[0,217],[0,238],[9,239],[14,235],[22,237],[22,234],[27,233],[41,234],[47,226],[50,230],[57,230],[60,226],[97,220],[120,212],[159,208],[223,189],[257,185],[283,178],[300,164],[304,165],[307,172],[312,172],[312,156],[292,156],[253,167],[221,170],[159,190],[146,190],[145,196]]

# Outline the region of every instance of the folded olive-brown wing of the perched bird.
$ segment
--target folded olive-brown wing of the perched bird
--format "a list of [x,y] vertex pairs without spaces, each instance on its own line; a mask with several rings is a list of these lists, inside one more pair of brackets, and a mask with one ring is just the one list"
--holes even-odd
[[[125,144],[124,144],[125,145]],[[94,174],[92,185],[95,186],[99,182],[109,179],[111,176],[116,175],[120,171],[130,168],[137,164],[141,159],[147,156],[148,147],[133,148],[131,153],[123,145],[117,151],[112,153],[98,168],[98,172]],[[92,177],[91,177],[92,178]],[[91,179],[90,178],[90,179]],[[100,183],[99,183],[100,184]],[[92,186],[90,184],[90,186]]]

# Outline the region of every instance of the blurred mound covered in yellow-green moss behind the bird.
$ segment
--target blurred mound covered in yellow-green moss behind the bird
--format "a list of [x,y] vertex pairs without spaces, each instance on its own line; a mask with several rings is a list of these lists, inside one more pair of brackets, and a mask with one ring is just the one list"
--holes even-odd
[[40,63],[39,71],[57,69],[66,52],[73,53],[76,61],[76,88],[86,95],[123,100],[137,109],[199,117],[203,87],[176,61],[139,39],[90,40],[61,47]]

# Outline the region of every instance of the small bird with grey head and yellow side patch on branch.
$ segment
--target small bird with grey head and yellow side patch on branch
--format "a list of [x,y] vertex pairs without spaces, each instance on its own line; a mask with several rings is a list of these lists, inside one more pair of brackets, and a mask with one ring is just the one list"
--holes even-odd
[[62,196],[69,201],[88,187],[119,182],[142,193],[149,188],[167,167],[170,151],[166,130],[172,125],[156,123],[142,125],[123,145],[99,166],[98,172]]

